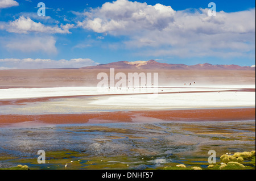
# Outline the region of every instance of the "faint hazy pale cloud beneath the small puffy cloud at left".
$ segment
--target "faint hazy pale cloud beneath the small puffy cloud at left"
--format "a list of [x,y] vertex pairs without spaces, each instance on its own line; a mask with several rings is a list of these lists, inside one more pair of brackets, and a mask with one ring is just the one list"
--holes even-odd
[[55,47],[56,40],[52,36],[42,37],[22,37],[6,42],[5,47],[9,50],[19,50],[21,52],[44,52],[47,54],[57,53]]

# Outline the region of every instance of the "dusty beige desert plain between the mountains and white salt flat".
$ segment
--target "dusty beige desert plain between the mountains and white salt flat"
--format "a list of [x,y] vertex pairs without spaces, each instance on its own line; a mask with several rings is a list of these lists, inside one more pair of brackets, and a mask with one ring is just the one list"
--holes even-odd
[[[39,69],[1,70],[0,89],[32,87],[97,86],[98,73],[109,69]],[[154,70],[115,69],[115,72],[158,73],[159,86],[183,86],[196,81],[197,85],[251,85],[255,84],[253,70]]]

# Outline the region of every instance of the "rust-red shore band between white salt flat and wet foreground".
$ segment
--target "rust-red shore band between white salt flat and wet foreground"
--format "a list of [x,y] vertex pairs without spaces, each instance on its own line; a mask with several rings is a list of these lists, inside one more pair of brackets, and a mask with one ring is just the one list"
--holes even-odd
[[59,115],[0,115],[0,127],[34,121],[41,124],[145,123],[151,121],[238,121],[255,120],[255,108],[129,111]]

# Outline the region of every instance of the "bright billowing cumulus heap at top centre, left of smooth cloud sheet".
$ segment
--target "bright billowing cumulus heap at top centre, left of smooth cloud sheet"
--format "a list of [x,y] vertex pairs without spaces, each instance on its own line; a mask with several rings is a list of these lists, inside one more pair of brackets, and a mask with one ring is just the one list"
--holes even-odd
[[78,22],[79,27],[98,33],[123,34],[139,29],[163,30],[173,20],[171,6],[118,0],[106,2],[101,8],[84,12],[87,17]]

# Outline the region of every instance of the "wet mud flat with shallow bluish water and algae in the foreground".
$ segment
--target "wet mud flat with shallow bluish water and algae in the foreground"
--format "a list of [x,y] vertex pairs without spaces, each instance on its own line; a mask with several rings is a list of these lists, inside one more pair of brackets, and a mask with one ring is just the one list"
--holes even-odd
[[[38,164],[38,150],[46,152],[45,164]],[[0,128],[0,169],[207,169],[209,150],[217,162],[225,153],[255,150],[255,120]]]

